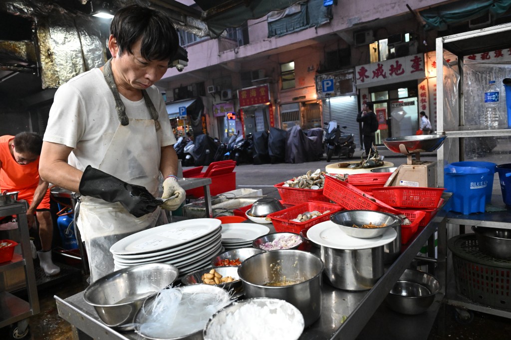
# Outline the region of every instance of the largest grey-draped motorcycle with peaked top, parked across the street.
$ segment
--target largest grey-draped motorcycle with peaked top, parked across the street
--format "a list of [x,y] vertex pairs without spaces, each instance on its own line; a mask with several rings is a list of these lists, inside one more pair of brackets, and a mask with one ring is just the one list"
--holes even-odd
[[307,137],[299,125],[294,125],[288,130],[286,146],[286,163],[305,163],[317,160],[314,151],[315,137]]

